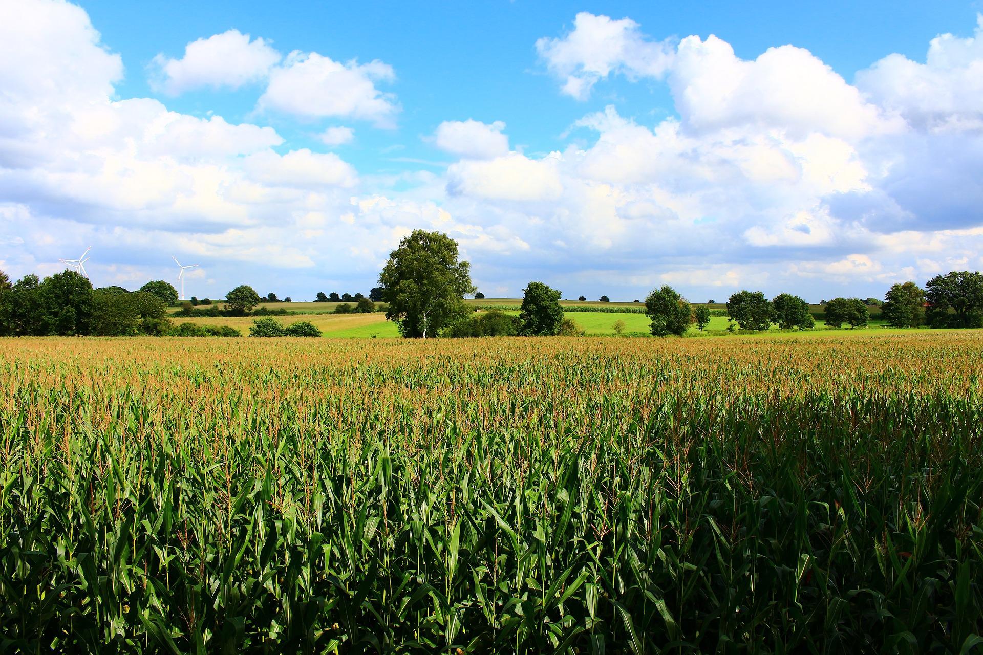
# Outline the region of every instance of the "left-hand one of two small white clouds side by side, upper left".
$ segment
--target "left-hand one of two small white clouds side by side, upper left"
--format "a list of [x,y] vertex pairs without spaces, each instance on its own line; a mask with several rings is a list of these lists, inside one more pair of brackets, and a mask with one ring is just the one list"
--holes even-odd
[[280,58],[266,40],[229,29],[192,41],[181,59],[157,55],[151,81],[168,95],[202,87],[234,89],[263,80]]

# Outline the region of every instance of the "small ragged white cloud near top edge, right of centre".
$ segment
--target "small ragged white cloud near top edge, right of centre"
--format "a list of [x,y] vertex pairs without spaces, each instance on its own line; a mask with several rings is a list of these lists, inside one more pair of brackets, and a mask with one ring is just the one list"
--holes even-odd
[[670,45],[646,38],[631,19],[614,21],[587,12],[577,14],[573,29],[563,36],[536,41],[536,50],[563,80],[563,92],[578,100],[587,98],[594,84],[611,74],[629,79],[661,77],[672,60]]

